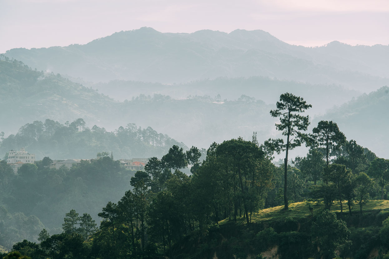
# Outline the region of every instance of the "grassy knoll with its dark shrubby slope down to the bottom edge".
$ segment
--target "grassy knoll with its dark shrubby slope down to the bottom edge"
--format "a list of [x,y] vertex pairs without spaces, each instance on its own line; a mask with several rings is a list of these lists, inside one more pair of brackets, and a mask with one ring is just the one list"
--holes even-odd
[[[313,207],[313,217],[309,210]],[[172,258],[259,259],[259,258],[316,258],[312,243],[312,223],[324,211],[322,203],[296,202],[260,210],[251,216],[247,226],[244,217],[224,219],[209,229],[204,237],[188,236],[177,245],[179,254]],[[387,248],[382,245],[379,231],[382,221],[389,216],[389,200],[371,200],[359,212],[359,205],[347,206],[340,215],[340,205],[334,203],[331,211],[346,222],[352,244],[340,258],[382,258]],[[312,238],[312,239],[311,239]],[[385,257],[384,257],[385,258]]]

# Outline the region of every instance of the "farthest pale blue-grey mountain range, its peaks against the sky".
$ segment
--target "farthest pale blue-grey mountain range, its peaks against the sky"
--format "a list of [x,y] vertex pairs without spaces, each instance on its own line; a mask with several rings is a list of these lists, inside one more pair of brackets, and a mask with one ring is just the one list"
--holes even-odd
[[11,49],[6,55],[39,70],[92,82],[185,83],[220,76],[269,76],[364,91],[389,82],[389,46],[331,42],[306,48],[289,45],[262,30],[160,33],[144,27],[85,45]]

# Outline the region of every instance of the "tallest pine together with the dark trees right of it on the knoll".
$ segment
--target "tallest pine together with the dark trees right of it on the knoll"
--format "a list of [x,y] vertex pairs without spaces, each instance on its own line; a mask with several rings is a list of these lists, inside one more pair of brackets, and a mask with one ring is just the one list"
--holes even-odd
[[[387,160],[377,158],[370,150],[359,146],[356,141],[347,141],[338,125],[332,121],[320,121],[311,134],[305,133],[308,128],[309,116],[302,114],[312,105],[307,104],[303,98],[293,94],[282,94],[276,109],[271,110],[273,117],[279,117],[280,123],[275,124],[276,129],[286,137],[284,139],[269,139],[263,147],[268,155],[274,152],[285,151],[283,198],[284,209],[288,209],[288,153],[291,149],[306,143],[310,151],[305,158],[296,158],[296,164],[301,167],[306,176],[312,177],[316,185],[318,180],[323,183],[312,191],[312,197],[321,198],[326,209],[331,208],[334,200],[339,200],[341,212],[342,201],[346,199],[351,214],[351,206],[355,199],[359,200],[362,213],[362,204],[368,199],[372,185],[371,179],[363,172],[370,172],[371,177],[377,180],[381,186],[381,198],[384,198],[385,177]],[[331,165],[329,159],[333,157]],[[325,167],[322,165],[326,161]],[[378,164],[378,165],[377,165]],[[296,184],[298,175],[293,175],[292,188],[301,186]],[[294,191],[294,196],[296,196]]]

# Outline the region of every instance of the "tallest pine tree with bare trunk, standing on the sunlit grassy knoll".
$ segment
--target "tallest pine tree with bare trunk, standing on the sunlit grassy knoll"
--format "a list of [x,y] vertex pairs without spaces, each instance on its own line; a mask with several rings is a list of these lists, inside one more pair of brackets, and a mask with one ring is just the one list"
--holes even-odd
[[288,172],[288,153],[289,150],[301,146],[301,143],[306,141],[307,134],[302,133],[308,128],[309,116],[301,116],[305,110],[312,107],[307,104],[303,98],[294,96],[293,94],[281,94],[280,101],[276,104],[277,109],[271,110],[270,114],[273,117],[280,117],[280,123],[275,124],[277,130],[282,131],[282,135],[286,136],[286,143],[283,139],[269,139],[265,145],[276,151],[278,154],[281,151],[286,151],[284,160],[284,209],[288,209],[287,198],[287,172]]

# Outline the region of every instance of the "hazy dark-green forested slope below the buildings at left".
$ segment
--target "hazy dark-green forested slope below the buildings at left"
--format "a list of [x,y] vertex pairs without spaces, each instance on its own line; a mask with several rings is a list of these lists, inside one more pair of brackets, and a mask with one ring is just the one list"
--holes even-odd
[[97,219],[100,208],[128,190],[135,171],[104,157],[68,169],[49,169],[49,158],[25,163],[14,175],[0,162],[0,245],[8,249],[23,239],[37,242],[43,228],[61,233],[65,213],[77,209]]

